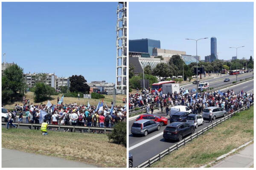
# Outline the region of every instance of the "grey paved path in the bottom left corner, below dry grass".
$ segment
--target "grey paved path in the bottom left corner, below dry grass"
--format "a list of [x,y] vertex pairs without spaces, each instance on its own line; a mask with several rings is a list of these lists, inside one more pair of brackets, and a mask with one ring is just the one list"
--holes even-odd
[[2,148],[2,167],[96,167],[53,156],[25,153]]

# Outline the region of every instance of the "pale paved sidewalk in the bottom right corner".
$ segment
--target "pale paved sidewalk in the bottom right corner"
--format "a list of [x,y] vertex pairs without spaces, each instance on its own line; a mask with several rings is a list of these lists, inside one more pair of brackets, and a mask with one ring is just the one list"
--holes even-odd
[[253,165],[253,144],[244,147],[238,153],[227,156],[212,167],[250,167]]

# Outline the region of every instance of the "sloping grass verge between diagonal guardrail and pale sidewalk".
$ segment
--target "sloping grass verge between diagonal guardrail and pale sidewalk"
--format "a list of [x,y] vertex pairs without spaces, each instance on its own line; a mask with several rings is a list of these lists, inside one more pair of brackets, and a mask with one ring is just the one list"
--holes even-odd
[[253,139],[253,107],[193,139],[152,167],[201,167]]

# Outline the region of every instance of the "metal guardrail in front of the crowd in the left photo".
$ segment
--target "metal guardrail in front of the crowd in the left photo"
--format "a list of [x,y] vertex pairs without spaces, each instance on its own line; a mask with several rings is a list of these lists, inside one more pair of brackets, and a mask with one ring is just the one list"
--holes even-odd
[[[41,127],[41,124],[32,124],[32,123],[12,123],[14,125],[17,125],[17,128],[20,126],[30,127],[31,129],[33,127]],[[6,125],[7,122],[2,122],[2,125]],[[61,129],[73,129],[73,132],[76,132],[76,130],[88,130],[88,133],[91,131],[100,131],[100,132],[111,132],[113,128],[110,127],[88,127],[88,126],[69,126],[69,125],[48,125],[48,128],[58,128],[60,131]]]

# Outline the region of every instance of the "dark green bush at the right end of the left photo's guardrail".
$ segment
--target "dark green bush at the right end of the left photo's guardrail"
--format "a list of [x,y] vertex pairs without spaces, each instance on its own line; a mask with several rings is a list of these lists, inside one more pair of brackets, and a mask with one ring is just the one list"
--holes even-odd
[[112,132],[108,133],[108,139],[116,144],[123,144],[126,147],[126,122],[116,123]]

